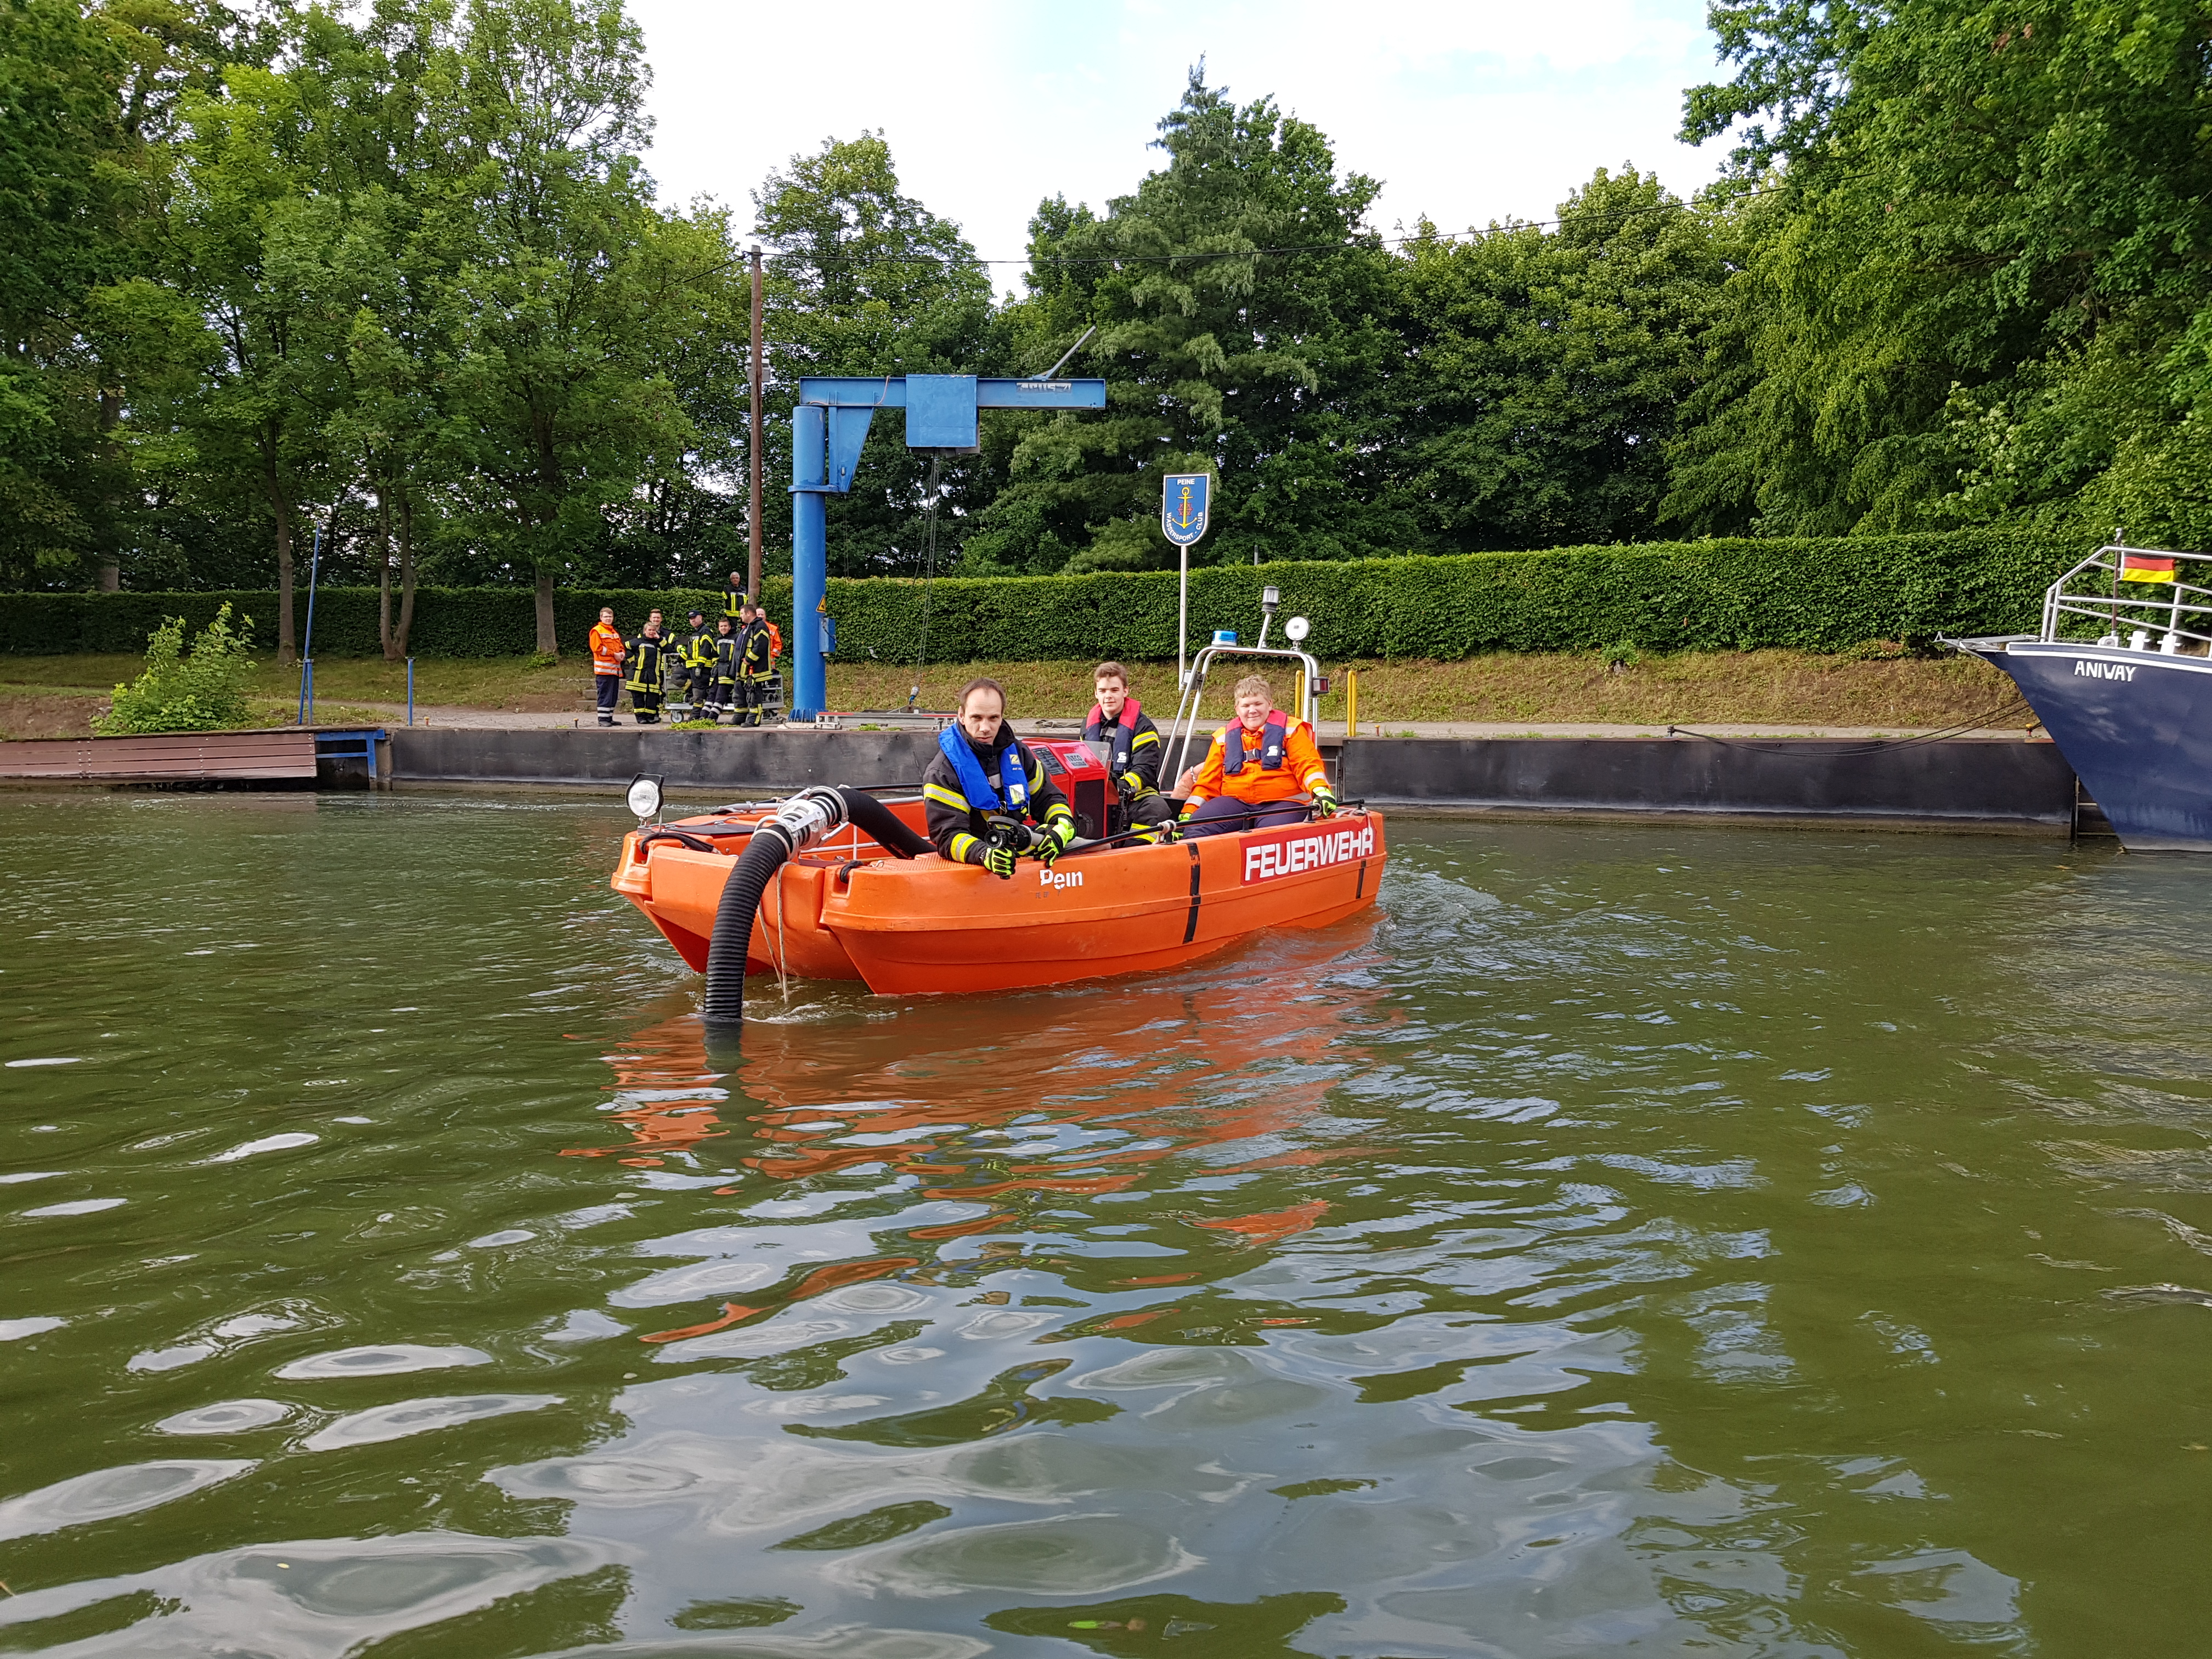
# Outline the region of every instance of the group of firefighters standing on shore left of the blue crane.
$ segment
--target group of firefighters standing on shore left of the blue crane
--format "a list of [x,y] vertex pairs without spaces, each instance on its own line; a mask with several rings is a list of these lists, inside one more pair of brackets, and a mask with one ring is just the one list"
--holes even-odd
[[624,639],[613,608],[599,611],[591,630],[591,675],[599,692],[599,726],[615,723],[622,692],[639,726],[659,726],[661,714],[721,726],[761,726],[779,701],[783,635],[763,606],[752,604],[745,577],[730,571],[721,615],[708,626],[692,611],[681,637],[668,637],[661,613],[646,617],[635,639]]

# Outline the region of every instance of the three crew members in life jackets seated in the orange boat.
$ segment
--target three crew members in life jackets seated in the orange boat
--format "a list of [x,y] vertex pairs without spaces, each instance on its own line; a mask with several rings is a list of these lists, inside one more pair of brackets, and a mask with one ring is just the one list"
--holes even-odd
[[[1237,719],[1175,781],[1179,810],[1161,792],[1166,745],[1128,695],[1128,668],[1102,661],[1093,690],[1084,741],[1106,750],[1121,805],[1117,823],[1106,825],[1108,838],[1159,843],[1336,814],[1314,728],[1276,708],[1261,675],[1237,681]],[[1006,688],[995,679],[971,679],[960,692],[960,714],[938,734],[938,752],[922,770],[922,801],[936,849],[1000,878],[1013,876],[1018,858],[1051,867],[1075,841],[1075,810],[1013,734]]]

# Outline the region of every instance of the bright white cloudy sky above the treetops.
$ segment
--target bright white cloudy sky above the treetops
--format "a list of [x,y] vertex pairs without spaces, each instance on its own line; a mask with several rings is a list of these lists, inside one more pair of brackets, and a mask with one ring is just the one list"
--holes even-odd
[[[1020,259],[1042,197],[1102,208],[1190,64],[1239,104],[1272,93],[1383,179],[1374,223],[1551,219],[1593,168],[1679,192],[1725,142],[1674,142],[1717,80],[1703,0],[630,0],[653,62],[661,199],[752,190],[794,150],[883,128],[907,195],[984,259]],[[1000,288],[1013,272],[998,272]]]

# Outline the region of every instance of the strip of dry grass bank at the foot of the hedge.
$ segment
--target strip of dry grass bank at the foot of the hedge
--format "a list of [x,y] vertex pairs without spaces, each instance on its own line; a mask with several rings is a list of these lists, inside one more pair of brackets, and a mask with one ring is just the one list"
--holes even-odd
[[[1360,723],[1405,721],[1590,721],[1615,726],[2028,726],[2011,681],[1978,657],[1854,661],[1801,650],[1730,650],[1646,657],[1610,666],[1593,655],[1489,655],[1464,661],[1352,664],[1360,670]],[[1323,719],[1345,717],[1343,664],[1321,701]],[[0,732],[73,737],[106,710],[108,690],[139,670],[137,657],[11,657],[0,661]],[[263,659],[257,710],[283,723],[296,708],[296,670]],[[1006,661],[894,668],[830,664],[832,708],[902,708],[920,684],[922,708],[951,708],[960,688],[989,675],[1006,686],[1015,714],[1082,714],[1091,706],[1088,661]],[[1137,697],[1161,719],[1175,708],[1175,664],[1130,664]],[[405,664],[327,657],[314,666],[323,719],[365,717],[365,706],[407,699]],[[1230,677],[1208,695],[1228,710]],[[1276,695],[1287,697],[1283,677]],[[575,659],[533,668],[529,659],[418,661],[416,703],[518,712],[591,710],[591,675]],[[2006,712],[2011,710],[2011,712]]]

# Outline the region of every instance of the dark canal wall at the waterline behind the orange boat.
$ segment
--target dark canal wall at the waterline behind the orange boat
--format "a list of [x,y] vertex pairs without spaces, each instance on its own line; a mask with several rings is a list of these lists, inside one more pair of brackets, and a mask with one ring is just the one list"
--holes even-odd
[[[392,728],[398,783],[619,785],[772,796],[918,781],[929,732]],[[1400,812],[1705,818],[2066,836],[2075,779],[2053,743],[1697,737],[1360,737],[1332,752],[1345,796]]]

